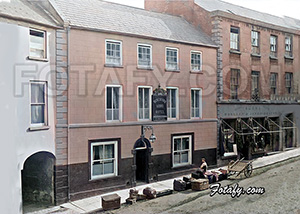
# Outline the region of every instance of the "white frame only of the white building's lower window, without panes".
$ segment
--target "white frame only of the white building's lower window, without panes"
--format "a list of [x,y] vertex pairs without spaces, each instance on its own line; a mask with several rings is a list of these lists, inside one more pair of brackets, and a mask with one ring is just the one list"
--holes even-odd
[[[43,84],[44,85],[44,103],[31,103],[31,85],[32,84]],[[31,80],[29,81],[29,118],[30,118],[30,127],[38,128],[38,127],[45,127],[48,125],[48,83],[47,81],[38,81],[38,80]],[[44,105],[44,123],[32,123],[31,118],[31,106],[32,105]]]

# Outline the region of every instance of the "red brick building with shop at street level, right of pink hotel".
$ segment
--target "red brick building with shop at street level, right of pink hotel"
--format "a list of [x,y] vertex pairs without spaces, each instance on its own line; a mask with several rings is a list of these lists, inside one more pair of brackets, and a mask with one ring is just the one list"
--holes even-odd
[[219,46],[220,159],[299,145],[297,20],[219,0],[145,0],[145,8],[184,17]]

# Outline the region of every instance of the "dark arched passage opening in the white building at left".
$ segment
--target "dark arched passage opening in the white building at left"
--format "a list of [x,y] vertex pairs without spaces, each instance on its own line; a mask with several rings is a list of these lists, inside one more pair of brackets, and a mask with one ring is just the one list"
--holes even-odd
[[25,161],[21,172],[24,213],[54,205],[54,163],[49,152],[35,153]]

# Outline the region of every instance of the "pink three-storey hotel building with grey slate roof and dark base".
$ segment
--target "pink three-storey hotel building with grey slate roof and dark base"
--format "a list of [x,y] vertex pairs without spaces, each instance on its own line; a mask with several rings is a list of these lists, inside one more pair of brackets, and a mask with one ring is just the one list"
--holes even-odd
[[[65,54],[57,71],[68,86],[57,104],[57,142],[66,148],[57,197],[170,178],[202,157],[216,165],[217,47],[209,36],[177,16],[98,0],[54,3],[66,26],[57,32]],[[159,85],[168,119],[153,122]]]

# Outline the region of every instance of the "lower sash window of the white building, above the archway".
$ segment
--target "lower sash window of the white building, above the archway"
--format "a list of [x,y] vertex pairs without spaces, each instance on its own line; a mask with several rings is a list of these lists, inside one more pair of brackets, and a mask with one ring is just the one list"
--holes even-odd
[[31,126],[47,125],[47,82],[30,81]]

